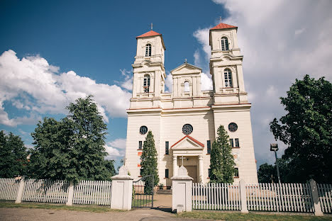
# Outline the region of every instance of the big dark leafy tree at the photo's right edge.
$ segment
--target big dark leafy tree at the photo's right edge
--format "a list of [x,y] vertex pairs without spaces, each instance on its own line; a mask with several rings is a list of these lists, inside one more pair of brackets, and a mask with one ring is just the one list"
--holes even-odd
[[272,120],[270,130],[287,145],[282,159],[288,164],[288,181],[331,183],[332,84],[306,75],[280,99],[286,114]]

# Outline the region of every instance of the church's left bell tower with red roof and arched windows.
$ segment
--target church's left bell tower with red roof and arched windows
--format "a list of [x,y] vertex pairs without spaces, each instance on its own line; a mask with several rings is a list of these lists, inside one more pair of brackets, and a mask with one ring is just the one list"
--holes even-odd
[[[165,44],[160,33],[150,30],[136,37],[137,50],[133,66],[133,97],[131,108],[139,107],[137,101],[160,98],[165,89]],[[135,104],[133,104],[135,103]],[[152,102],[153,107],[158,106]],[[152,106],[147,106],[152,107]]]

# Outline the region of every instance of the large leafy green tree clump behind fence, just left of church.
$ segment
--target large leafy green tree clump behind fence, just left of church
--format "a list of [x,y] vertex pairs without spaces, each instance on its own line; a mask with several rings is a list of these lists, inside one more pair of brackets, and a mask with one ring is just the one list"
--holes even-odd
[[106,124],[92,96],[79,98],[67,107],[60,121],[44,118],[31,135],[31,176],[37,179],[110,180],[114,162],[106,157]]

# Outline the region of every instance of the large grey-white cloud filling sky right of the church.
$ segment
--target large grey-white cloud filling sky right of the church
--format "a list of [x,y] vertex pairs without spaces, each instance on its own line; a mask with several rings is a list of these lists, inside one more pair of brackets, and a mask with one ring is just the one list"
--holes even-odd
[[[228,11],[222,22],[238,26],[245,89],[253,102],[255,157],[258,165],[272,163],[275,159],[268,147],[275,140],[268,124],[284,115],[279,97],[287,96],[289,86],[305,74],[332,80],[332,1],[214,2]],[[208,29],[194,32],[201,45],[194,54],[197,64],[209,64]],[[200,52],[205,56],[199,57]]]

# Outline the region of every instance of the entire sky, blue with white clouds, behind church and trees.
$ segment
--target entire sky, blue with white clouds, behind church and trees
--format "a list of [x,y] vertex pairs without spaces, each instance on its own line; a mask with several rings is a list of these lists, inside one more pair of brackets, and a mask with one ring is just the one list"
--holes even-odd
[[[167,74],[187,58],[209,79],[209,28],[238,26],[258,164],[272,163],[268,123],[278,98],[304,74],[331,81],[331,1],[1,1],[0,130],[32,147],[38,120],[94,94],[106,118],[107,150],[124,153],[135,36],[161,33]],[[282,150],[285,148],[280,143]]]

